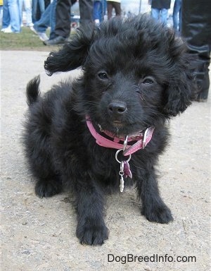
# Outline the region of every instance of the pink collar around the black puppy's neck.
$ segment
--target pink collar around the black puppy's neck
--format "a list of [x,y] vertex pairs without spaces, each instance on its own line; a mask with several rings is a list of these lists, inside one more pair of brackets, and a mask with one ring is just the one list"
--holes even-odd
[[[89,117],[87,117],[87,126],[89,128],[91,135],[93,135],[94,138],[96,139],[96,143],[98,145],[100,145],[101,147],[110,147],[113,149],[118,149],[118,150],[122,149],[123,150],[124,139],[122,140],[121,138],[113,138],[113,136],[111,136],[110,134],[108,134],[106,132],[105,133],[107,135],[109,135],[110,137],[112,137],[113,140],[109,140],[108,138],[104,138],[102,135],[97,133],[97,131],[95,130]],[[146,147],[146,145],[150,142],[150,140],[153,136],[153,131],[154,131],[154,128],[149,127],[146,129],[146,131],[144,133],[140,133],[140,136],[138,138],[128,138],[128,140],[127,140],[128,142],[136,140],[136,143],[134,143],[134,145],[127,145],[126,150],[123,151],[123,155],[124,156],[132,155],[137,150],[144,149],[144,147]],[[117,143],[120,141],[122,141],[123,143],[122,144]]]

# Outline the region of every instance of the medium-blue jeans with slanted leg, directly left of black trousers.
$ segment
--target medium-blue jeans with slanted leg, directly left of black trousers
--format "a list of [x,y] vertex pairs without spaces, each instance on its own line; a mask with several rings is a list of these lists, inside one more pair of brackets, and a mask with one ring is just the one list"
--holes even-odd
[[56,37],[55,25],[56,25],[56,4],[57,0],[53,0],[46,10],[42,14],[41,18],[34,23],[34,29],[37,32],[46,32],[46,29],[51,27],[50,39]]

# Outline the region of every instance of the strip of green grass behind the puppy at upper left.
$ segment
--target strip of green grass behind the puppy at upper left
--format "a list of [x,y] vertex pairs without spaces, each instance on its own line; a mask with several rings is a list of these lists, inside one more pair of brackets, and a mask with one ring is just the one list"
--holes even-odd
[[[49,37],[50,30],[46,31]],[[55,47],[53,47],[55,48]],[[39,37],[30,30],[23,27],[18,34],[0,32],[0,49],[1,50],[27,50],[27,51],[51,51],[52,47],[44,45]]]

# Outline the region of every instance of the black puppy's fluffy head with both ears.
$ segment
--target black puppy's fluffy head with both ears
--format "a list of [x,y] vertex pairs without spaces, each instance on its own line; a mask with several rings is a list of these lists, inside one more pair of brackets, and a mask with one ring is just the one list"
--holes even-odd
[[50,75],[82,67],[77,89],[85,113],[109,131],[128,134],[191,104],[188,62],[184,42],[170,28],[136,16],[77,30],[44,67]]

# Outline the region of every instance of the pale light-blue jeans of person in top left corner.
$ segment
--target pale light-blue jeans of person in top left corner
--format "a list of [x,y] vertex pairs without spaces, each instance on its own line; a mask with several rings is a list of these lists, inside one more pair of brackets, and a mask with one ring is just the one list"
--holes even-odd
[[2,28],[7,28],[9,25],[11,25],[11,30],[13,32],[20,32],[18,0],[4,0]]

